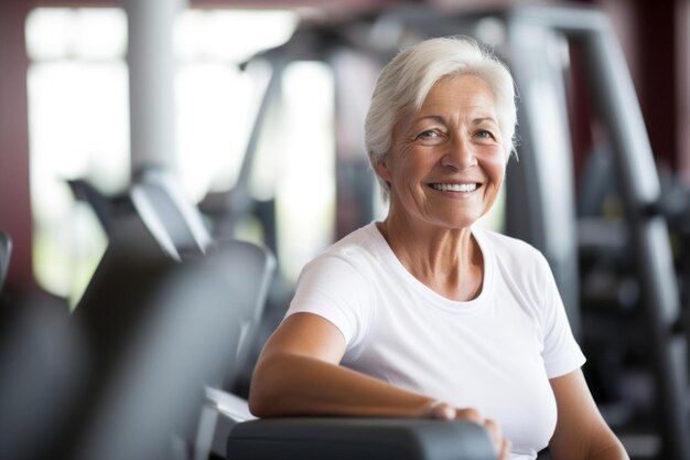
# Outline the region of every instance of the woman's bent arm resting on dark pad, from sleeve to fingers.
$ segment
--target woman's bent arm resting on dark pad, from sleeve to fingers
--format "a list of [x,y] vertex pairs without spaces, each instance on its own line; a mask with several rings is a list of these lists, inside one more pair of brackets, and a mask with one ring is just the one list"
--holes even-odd
[[499,459],[510,442],[474,409],[398,388],[339,365],[345,339],[330,321],[295,313],[271,335],[257,362],[249,408],[258,417],[325,415],[468,419],[486,429]]

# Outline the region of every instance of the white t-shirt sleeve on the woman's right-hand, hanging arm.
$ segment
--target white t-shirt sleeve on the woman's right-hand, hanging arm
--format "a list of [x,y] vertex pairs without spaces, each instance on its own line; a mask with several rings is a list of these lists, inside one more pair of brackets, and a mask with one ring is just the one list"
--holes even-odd
[[543,350],[542,359],[549,378],[565,375],[580,368],[585,357],[573,336],[565,314],[563,301],[556,286],[553,274],[543,256],[541,274],[545,279],[545,302],[542,315]]

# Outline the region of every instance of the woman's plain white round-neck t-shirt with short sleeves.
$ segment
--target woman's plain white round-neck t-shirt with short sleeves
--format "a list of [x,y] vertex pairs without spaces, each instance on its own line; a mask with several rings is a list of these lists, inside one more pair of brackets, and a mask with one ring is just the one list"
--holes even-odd
[[500,424],[514,459],[535,459],[556,427],[549,378],[584,363],[553,276],[528,244],[474,228],[484,285],[450,300],[414,278],[375,223],[308,264],[287,315],[319,314],[343,333],[342,364]]

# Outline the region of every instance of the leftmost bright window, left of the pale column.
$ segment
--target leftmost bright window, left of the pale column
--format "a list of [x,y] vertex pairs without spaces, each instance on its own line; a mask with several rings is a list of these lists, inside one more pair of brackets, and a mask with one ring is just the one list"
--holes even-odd
[[74,301],[106,236],[66,181],[115,193],[129,180],[127,19],[119,9],[39,8],[26,47],[33,266],[40,286]]

